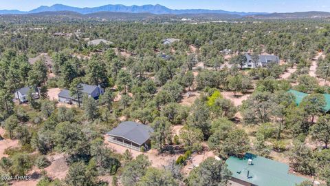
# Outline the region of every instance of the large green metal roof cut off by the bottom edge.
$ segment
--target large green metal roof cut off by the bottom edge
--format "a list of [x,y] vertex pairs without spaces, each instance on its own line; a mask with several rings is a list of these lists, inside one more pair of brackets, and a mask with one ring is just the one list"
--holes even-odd
[[232,172],[231,180],[240,185],[295,186],[307,180],[289,174],[289,165],[268,158],[245,154],[244,158],[230,157],[225,163]]

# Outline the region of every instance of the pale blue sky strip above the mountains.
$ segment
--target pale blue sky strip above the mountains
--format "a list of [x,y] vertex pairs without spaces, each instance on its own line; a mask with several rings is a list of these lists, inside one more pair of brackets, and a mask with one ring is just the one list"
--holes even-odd
[[95,7],[106,4],[144,5],[159,3],[173,9],[205,8],[238,12],[330,12],[330,0],[0,0],[0,10],[32,10],[62,3],[67,6]]

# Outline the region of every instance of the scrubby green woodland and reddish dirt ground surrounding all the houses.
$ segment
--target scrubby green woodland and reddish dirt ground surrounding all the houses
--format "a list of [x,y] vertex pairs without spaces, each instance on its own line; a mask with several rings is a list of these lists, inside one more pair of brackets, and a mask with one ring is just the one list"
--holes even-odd
[[[0,17],[0,185],[228,185],[225,161],[245,153],[330,185],[327,19],[49,17]],[[245,54],[280,60],[243,68]],[[104,94],[83,96],[81,83]],[[81,103],[58,101],[61,90]],[[151,127],[151,149],[110,143],[122,121]]]

